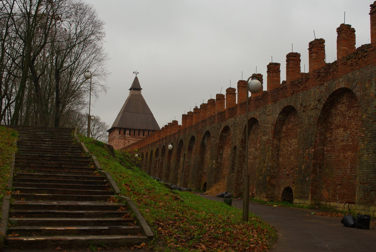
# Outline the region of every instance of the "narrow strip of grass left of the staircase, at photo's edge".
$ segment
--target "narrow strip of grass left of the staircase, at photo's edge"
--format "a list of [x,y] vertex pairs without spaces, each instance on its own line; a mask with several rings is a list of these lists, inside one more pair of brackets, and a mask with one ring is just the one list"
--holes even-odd
[[12,154],[17,151],[17,147],[15,147],[16,138],[16,131],[0,126],[0,214],[3,197],[8,191],[7,187]]

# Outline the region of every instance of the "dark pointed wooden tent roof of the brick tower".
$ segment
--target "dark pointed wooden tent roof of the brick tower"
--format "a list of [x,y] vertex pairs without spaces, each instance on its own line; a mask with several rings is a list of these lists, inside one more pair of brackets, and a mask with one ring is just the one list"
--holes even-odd
[[144,130],[161,130],[152,111],[141,95],[141,86],[136,75],[130,87],[129,96],[124,102],[111,128],[134,128]]

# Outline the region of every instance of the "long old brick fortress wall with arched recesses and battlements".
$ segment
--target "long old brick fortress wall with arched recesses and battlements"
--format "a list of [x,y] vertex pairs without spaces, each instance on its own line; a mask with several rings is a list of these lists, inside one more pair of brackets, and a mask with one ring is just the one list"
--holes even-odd
[[[282,83],[280,64],[268,65],[267,91],[248,101],[250,196],[376,216],[376,2],[370,18],[371,44],[356,49],[355,29],[337,28],[333,63],[325,63],[320,38],[309,43],[309,73],[300,72],[296,52],[287,54]],[[226,90],[226,102],[217,94],[182,115],[182,125],[173,121],[127,148],[137,150],[150,175],[203,190],[223,182],[241,195],[244,89],[239,81],[238,90]]]

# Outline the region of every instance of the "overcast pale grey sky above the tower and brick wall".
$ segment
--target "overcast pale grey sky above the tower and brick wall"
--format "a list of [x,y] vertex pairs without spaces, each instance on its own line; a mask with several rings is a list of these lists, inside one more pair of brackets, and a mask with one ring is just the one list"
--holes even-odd
[[85,0],[105,21],[109,54],[108,92],[91,111],[111,127],[138,71],[142,94],[160,127],[195,104],[237,87],[252,73],[301,54],[308,72],[308,43],[325,39],[326,62],[337,57],[336,29],[344,22],[356,31],[356,47],[370,43],[370,0]]

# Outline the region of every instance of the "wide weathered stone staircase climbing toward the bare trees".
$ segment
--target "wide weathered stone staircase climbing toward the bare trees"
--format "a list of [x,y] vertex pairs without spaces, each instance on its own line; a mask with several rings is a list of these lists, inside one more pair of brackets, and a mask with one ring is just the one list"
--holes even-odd
[[[147,243],[127,206],[98,176],[69,128],[12,126],[19,133],[9,249],[125,247]],[[114,199],[114,198],[112,198]]]

